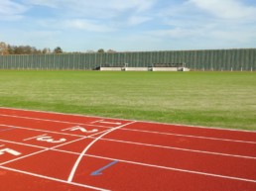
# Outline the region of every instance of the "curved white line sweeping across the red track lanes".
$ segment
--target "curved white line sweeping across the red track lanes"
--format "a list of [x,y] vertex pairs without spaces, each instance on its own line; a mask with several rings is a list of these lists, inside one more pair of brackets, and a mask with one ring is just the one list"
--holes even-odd
[[82,150],[82,152],[80,153],[79,157],[77,158],[77,160],[75,161],[71,171],[70,171],[70,174],[69,174],[69,177],[67,178],[67,181],[68,182],[71,182],[72,179],[73,179],[73,176],[74,176],[74,173],[78,167],[78,164],[80,163],[81,161],[81,158],[82,156],[86,153],[86,151],[94,144],[96,143],[98,140],[100,140],[102,137],[104,137],[105,135],[115,131],[115,130],[118,130],[122,127],[125,127],[125,126],[128,126],[128,125],[131,125],[133,123],[136,123],[135,121],[134,122],[130,122],[130,123],[127,123],[127,124],[124,124],[122,126],[119,126],[119,127],[116,127],[116,128],[113,128],[113,129],[110,129],[109,131],[105,132],[104,134],[102,134],[101,136],[99,136],[98,138],[96,138],[94,141],[92,141],[91,143],[89,143],[88,145],[86,145],[86,147]]

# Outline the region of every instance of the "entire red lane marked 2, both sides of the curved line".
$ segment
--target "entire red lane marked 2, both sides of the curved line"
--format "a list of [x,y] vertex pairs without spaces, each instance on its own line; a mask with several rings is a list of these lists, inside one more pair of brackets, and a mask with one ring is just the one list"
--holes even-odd
[[[66,133],[71,135],[80,135],[80,136],[90,136],[93,135],[93,130],[98,131],[97,133],[106,131],[110,129],[102,127],[91,127],[91,126],[77,126],[75,124],[65,124],[62,122],[52,122],[52,121],[41,121],[41,120],[31,120],[31,119],[22,119],[22,118],[13,118],[7,116],[0,116],[0,123],[11,126],[22,125],[35,130],[48,130],[48,131],[57,131],[60,133]],[[158,124],[155,124],[154,127],[157,127]],[[80,127],[86,130],[87,132],[81,131],[70,131],[70,128]],[[124,129],[139,129],[140,123],[136,122],[129,126],[113,132],[108,135],[106,138],[119,140],[119,141],[128,141],[135,143],[151,143],[157,145],[165,145],[179,148],[188,148],[201,151],[210,151],[210,152],[219,152],[225,154],[233,155],[245,155],[245,156],[256,156],[256,142],[255,143],[246,143],[243,141],[236,142],[234,140],[211,140],[207,138],[198,138],[198,137],[187,137],[182,135],[168,135],[168,134],[157,134],[151,132],[140,132],[140,131],[127,131]],[[165,125],[165,127],[167,127]],[[169,126],[168,126],[169,127]],[[172,126],[171,126],[172,128]],[[161,128],[160,128],[161,129]],[[199,129],[204,131],[203,129]],[[91,133],[92,132],[92,133]],[[230,132],[230,131],[229,131]],[[235,132],[237,134],[237,132]],[[244,132],[242,132],[244,134]],[[233,142],[232,142],[233,141]]]

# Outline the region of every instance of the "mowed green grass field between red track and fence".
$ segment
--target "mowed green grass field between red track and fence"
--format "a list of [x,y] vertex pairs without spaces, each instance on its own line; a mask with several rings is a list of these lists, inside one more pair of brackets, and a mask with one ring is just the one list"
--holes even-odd
[[255,72],[0,70],[0,106],[256,130]]

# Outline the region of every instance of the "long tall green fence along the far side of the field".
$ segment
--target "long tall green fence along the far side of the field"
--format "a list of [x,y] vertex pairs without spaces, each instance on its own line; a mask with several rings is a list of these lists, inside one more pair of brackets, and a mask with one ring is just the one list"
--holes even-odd
[[186,63],[192,70],[255,71],[256,48],[0,55],[0,69],[92,70],[124,63],[129,67]]

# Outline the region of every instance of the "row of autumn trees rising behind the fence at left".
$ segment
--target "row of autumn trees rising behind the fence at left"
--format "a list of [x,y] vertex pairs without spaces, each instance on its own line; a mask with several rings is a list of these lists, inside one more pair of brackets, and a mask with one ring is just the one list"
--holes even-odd
[[[97,51],[94,50],[86,50],[85,52],[116,52],[115,50],[108,49],[105,51],[103,48],[99,48]],[[61,47],[54,48],[51,50],[50,48],[35,48],[31,46],[11,46],[4,42],[0,42],[0,55],[11,55],[11,54],[46,54],[46,53],[68,53],[64,52]],[[80,53],[80,52],[72,52],[72,53]]]

